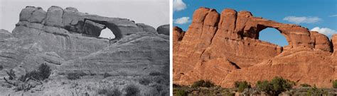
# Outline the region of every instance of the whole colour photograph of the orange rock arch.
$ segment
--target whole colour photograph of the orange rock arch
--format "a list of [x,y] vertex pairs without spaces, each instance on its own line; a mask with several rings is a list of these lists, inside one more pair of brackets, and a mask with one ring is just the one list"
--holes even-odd
[[336,95],[337,1],[173,0],[173,95]]

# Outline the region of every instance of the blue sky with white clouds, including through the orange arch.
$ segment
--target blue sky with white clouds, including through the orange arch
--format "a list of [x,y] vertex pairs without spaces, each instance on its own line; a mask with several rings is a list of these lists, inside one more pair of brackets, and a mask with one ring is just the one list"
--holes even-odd
[[[173,26],[187,30],[193,12],[201,6],[215,8],[218,13],[225,8],[250,11],[253,16],[301,25],[328,37],[337,34],[336,0],[173,0]],[[285,37],[274,28],[262,30],[260,40],[280,46],[288,45]]]

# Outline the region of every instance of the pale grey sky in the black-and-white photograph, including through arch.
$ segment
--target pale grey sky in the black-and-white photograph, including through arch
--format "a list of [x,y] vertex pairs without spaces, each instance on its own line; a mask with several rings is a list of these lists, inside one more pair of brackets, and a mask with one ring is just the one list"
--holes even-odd
[[[19,13],[26,6],[40,6],[44,11],[50,6],[71,6],[82,13],[128,18],[154,28],[170,21],[169,0],[0,0],[0,29],[11,32],[18,23]],[[100,37],[114,38],[108,31],[102,31]]]

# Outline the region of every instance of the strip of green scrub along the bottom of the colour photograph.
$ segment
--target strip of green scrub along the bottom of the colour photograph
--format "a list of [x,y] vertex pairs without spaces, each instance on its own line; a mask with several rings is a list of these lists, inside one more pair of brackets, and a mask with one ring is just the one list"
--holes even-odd
[[[251,83],[243,80],[236,81],[234,88],[221,88],[219,85],[205,86],[204,83],[212,83],[210,80],[198,80],[192,85],[176,85],[173,84],[173,94],[175,96],[187,95],[336,95],[336,88],[317,88],[316,85],[302,83],[296,86],[294,81],[274,77],[272,80],[260,80],[252,87]],[[337,80],[332,81],[332,86],[337,85]],[[212,83],[214,84],[214,83]]]

